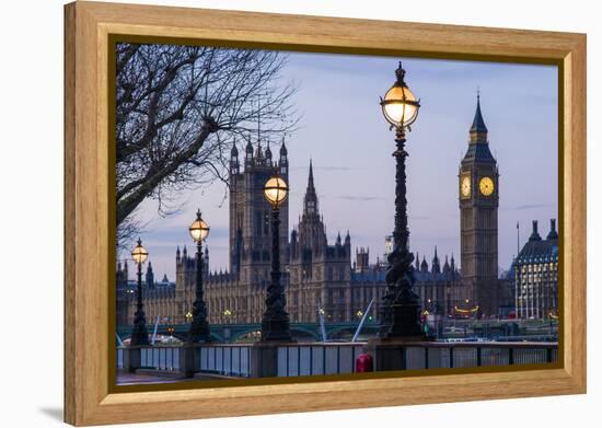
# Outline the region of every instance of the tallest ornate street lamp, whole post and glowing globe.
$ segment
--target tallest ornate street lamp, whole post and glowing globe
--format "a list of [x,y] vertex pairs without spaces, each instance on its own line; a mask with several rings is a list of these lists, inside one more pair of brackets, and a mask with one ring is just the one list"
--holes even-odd
[[405,70],[395,70],[395,83],[381,99],[381,107],[386,122],[395,129],[396,160],[395,173],[395,229],[393,230],[394,247],[389,254],[386,270],[386,293],[381,310],[380,336],[386,338],[422,336],[420,326],[420,299],[414,292],[414,255],[408,248],[409,231],[407,228],[405,132],[416,120],[420,103],[407,86]]

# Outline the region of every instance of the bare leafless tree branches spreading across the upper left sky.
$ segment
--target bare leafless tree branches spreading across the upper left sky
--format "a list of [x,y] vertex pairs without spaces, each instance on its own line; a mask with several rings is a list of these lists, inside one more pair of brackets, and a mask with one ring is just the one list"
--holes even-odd
[[119,44],[116,55],[117,236],[152,198],[166,215],[185,189],[225,181],[233,139],[279,137],[298,117],[277,51]]

